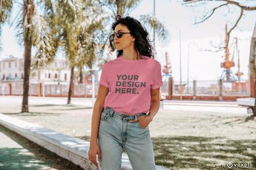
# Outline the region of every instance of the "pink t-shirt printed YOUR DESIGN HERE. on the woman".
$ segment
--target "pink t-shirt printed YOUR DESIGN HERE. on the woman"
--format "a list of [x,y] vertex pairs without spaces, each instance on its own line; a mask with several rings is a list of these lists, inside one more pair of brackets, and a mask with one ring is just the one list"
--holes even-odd
[[135,115],[150,109],[150,88],[163,85],[161,65],[152,58],[129,60],[120,56],[102,65],[99,83],[109,89],[104,108]]

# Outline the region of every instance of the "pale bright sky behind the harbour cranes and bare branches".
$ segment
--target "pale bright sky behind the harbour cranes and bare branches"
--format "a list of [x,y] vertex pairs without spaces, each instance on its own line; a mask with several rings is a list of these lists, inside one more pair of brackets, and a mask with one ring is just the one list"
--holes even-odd
[[[245,2],[245,1],[240,1]],[[216,7],[221,2],[208,3],[200,7],[186,7],[177,1],[156,0],[156,17],[167,27],[169,37],[165,43],[156,42],[156,59],[164,65],[164,53],[169,53],[171,65],[173,67],[173,78],[180,78],[180,53],[179,53],[179,30],[181,30],[181,58],[182,58],[182,80],[189,76],[190,80],[216,80],[221,76],[221,62],[224,61],[224,52],[208,52],[203,49],[212,49],[209,42],[219,44],[224,41],[224,24],[227,22],[231,27],[240,14],[237,7],[230,6],[228,13],[226,7],[217,10],[209,20],[202,24],[194,25],[195,18],[203,15],[203,11],[208,11],[211,7]],[[245,2],[245,5],[255,6],[256,2]],[[137,9],[133,10],[130,16],[139,18],[141,14],[152,14],[153,0],[144,0]],[[234,29],[232,37],[238,37],[240,49],[241,71],[244,72],[243,79],[247,79],[249,66],[249,47],[251,35],[256,21],[256,12],[245,12],[238,28]],[[150,30],[148,30],[150,31]],[[152,35],[152,31],[150,32]],[[151,37],[152,39],[152,37]],[[3,50],[0,52],[0,59],[12,54],[22,58],[23,50],[16,41],[15,32],[6,24],[3,27],[1,36]],[[188,75],[188,44],[190,44],[189,54],[189,75]],[[232,52],[233,48],[230,48]],[[237,65],[237,58],[234,58]],[[236,73],[237,67],[233,68]]]

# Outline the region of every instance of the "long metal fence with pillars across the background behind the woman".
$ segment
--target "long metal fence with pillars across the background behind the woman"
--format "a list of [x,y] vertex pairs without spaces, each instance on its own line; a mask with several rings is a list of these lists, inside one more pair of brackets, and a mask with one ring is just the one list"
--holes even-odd
[[[169,93],[169,84],[172,84],[173,95],[249,95],[250,84],[249,80],[242,82],[221,82],[220,80],[194,80],[189,82],[173,81],[169,83],[167,80],[163,81],[161,92],[164,95]],[[30,95],[68,95],[70,84],[57,82],[38,84],[38,82],[30,83]],[[92,84],[77,84],[74,83],[74,95],[87,96],[92,95]],[[95,94],[98,93],[98,81],[95,82]],[[22,95],[23,82],[0,82],[0,95]]]

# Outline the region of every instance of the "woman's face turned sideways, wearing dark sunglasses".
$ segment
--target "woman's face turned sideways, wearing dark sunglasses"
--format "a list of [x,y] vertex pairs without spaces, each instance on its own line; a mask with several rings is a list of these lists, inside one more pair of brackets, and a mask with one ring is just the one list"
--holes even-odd
[[133,38],[130,34],[129,29],[122,24],[118,24],[115,27],[114,33],[123,33],[120,38],[115,35],[114,42],[116,44],[117,50],[124,50],[125,48],[130,48],[133,46],[133,42],[135,41],[135,38]]

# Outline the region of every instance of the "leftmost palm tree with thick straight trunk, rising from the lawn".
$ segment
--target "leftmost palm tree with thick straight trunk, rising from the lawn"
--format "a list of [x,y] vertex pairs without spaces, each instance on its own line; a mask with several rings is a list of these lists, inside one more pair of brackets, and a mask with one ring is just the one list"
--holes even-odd
[[[12,4],[14,0],[0,0],[1,4],[1,23],[3,24],[11,15]],[[53,58],[56,49],[54,49],[53,35],[51,27],[44,16],[37,10],[37,7],[44,4],[42,1],[23,0],[17,3],[20,6],[20,13],[14,18],[16,24],[18,39],[24,46],[24,82],[23,82],[23,100],[22,112],[28,110],[28,92],[30,84],[32,46],[36,50],[35,57]],[[3,9],[3,10],[2,10]]]

